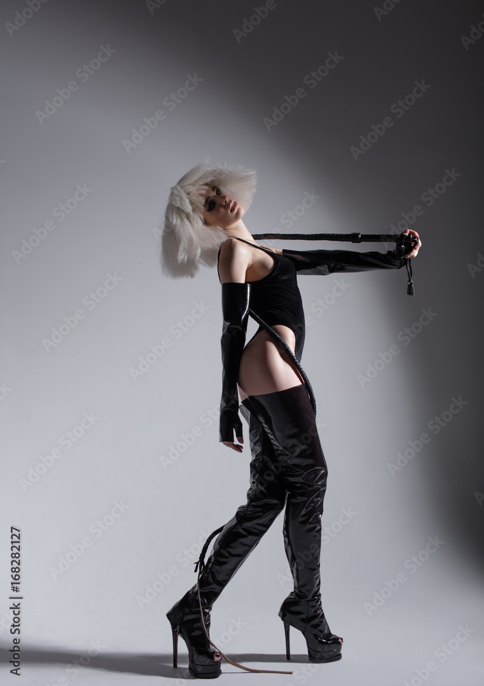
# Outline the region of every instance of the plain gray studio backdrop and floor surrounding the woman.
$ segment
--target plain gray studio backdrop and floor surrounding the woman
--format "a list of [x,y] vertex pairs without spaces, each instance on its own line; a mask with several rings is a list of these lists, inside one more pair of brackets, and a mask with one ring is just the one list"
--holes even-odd
[[[245,502],[250,461],[218,440],[217,274],[169,281],[158,263],[169,188],[207,156],[257,169],[252,233],[409,226],[423,244],[413,297],[404,269],[300,277],[329,471],[322,591],[344,659],[246,678],[482,683],[483,11],[3,3],[0,639],[6,656],[21,595],[24,683],[82,683],[80,657],[103,683],[186,674],[170,667],[165,612]],[[212,633],[287,669],[281,528],[224,591]]]

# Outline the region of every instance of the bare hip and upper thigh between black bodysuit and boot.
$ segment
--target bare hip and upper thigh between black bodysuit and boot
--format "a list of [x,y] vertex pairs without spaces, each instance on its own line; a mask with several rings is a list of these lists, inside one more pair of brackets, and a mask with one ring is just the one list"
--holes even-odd
[[[294,352],[295,338],[288,327],[273,327]],[[303,383],[302,377],[287,353],[281,351],[267,331],[259,331],[243,349],[239,367],[241,400],[249,395],[263,395],[286,390]]]

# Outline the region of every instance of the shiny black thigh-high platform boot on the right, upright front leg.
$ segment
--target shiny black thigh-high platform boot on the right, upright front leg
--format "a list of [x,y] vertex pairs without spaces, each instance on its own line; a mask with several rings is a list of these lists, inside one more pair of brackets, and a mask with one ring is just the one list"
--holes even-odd
[[247,399],[265,427],[287,488],[284,537],[294,591],[282,603],[287,658],[289,627],[302,631],[312,662],[341,659],[342,639],[332,634],[320,594],[321,517],[328,470],[311,401],[304,385]]

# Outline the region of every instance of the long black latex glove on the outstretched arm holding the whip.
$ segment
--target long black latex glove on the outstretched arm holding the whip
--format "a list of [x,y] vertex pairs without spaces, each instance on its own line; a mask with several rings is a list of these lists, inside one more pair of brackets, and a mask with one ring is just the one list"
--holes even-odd
[[282,250],[298,274],[335,274],[369,272],[374,269],[400,269],[405,263],[402,250],[356,252],[355,250]]

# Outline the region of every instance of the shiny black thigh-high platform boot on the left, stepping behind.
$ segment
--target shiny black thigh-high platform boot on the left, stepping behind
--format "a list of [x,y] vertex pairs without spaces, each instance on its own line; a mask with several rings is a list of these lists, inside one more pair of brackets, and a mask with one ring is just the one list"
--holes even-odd
[[[217,537],[199,576],[204,624],[210,626],[213,603],[247,555],[261,540],[285,505],[286,489],[269,438],[254,415],[241,408],[249,423],[250,487],[247,504],[241,506]],[[198,678],[221,674],[221,655],[210,645],[202,626],[197,584],[167,613],[173,632],[173,666],[177,666],[178,634],[189,649],[189,670]]]

